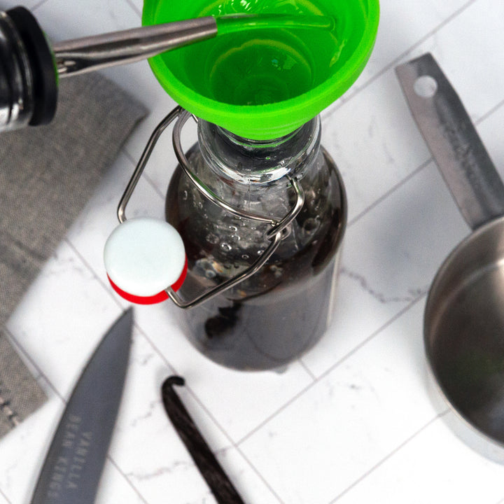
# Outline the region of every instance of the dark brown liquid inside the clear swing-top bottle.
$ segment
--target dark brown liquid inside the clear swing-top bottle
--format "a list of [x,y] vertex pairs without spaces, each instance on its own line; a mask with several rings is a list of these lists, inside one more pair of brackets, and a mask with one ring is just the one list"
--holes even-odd
[[[301,181],[306,199],[290,236],[260,271],[183,312],[188,338],[211,360],[239,370],[274,369],[325,332],[346,209],[335,167],[322,155],[320,165],[321,173]],[[204,200],[180,167],[167,194],[167,221],[186,246],[189,272],[179,294],[187,300],[243,271],[268,244],[267,225]]]

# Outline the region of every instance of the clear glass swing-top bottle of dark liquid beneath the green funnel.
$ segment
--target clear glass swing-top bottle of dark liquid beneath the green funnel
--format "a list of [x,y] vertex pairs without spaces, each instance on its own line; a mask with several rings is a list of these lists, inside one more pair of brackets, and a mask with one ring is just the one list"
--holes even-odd
[[[238,370],[281,368],[311,349],[332,314],[346,197],[335,163],[320,146],[314,118],[286,137],[253,141],[198,121],[187,153],[193,174],[235,208],[276,221],[304,204],[266,264],[248,279],[182,311],[190,342]],[[230,213],[202,195],[179,165],[169,183],[166,218],[179,231],[188,276],[178,291],[193,299],[243,272],[269,241],[268,223]]]

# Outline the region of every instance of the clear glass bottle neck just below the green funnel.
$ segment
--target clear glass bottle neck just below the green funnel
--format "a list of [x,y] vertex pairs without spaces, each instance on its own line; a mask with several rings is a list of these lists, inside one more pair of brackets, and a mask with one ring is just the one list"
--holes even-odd
[[301,179],[318,155],[321,127],[318,116],[279,139],[257,141],[222,127],[198,121],[204,160],[219,178],[230,183],[269,185],[283,177]]

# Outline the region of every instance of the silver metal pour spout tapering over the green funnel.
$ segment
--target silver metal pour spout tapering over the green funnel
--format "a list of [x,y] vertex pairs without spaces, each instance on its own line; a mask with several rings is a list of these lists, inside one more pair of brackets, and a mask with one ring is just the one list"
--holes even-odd
[[59,77],[140,61],[217,34],[213,16],[52,44]]

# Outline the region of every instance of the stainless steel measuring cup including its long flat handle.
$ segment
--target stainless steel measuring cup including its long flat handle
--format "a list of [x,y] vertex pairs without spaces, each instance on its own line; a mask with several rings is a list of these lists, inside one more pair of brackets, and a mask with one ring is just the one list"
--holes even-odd
[[395,69],[412,115],[472,233],[437,272],[426,357],[456,434],[504,463],[504,185],[430,54]]

